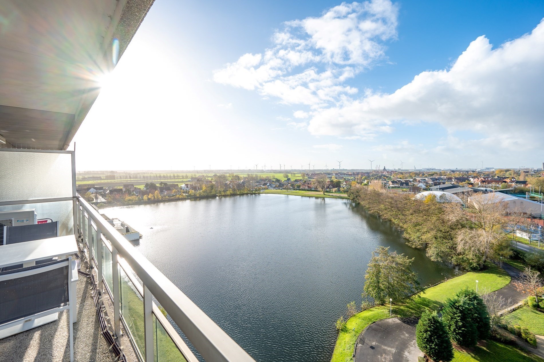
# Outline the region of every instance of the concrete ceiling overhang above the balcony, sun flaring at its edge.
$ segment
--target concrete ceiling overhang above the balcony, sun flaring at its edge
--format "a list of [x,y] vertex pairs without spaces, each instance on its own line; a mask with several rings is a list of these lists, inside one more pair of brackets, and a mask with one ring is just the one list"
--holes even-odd
[[0,146],[65,150],[153,1],[0,1]]

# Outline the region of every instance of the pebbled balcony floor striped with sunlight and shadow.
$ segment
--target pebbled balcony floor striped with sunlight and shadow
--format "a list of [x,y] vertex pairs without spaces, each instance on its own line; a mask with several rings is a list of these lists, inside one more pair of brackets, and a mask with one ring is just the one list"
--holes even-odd
[[[100,332],[91,281],[83,275],[78,277],[77,322],[73,324],[74,360],[114,362],[115,355],[109,351]],[[68,328],[68,311],[63,311],[57,321],[1,339],[0,362],[70,361]]]

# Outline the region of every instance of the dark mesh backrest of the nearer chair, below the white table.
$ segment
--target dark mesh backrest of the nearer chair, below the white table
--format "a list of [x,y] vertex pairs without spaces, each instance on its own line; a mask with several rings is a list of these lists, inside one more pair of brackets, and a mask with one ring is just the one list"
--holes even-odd
[[0,325],[68,304],[70,259],[0,272]]

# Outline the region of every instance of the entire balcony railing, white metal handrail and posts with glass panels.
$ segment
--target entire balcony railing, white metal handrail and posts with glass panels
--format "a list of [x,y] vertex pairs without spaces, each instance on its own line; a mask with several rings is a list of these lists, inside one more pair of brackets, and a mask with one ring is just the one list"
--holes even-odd
[[122,323],[140,361],[198,360],[153,297],[205,360],[254,361],[81,195],[76,209],[74,224],[96,268],[98,288],[113,300],[115,335],[121,335]]

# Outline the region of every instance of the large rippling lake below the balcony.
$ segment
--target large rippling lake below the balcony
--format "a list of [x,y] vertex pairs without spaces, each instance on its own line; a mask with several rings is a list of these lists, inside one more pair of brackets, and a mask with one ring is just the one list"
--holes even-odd
[[141,253],[257,361],[329,361],[378,246],[414,257],[422,285],[454,275],[348,200],[260,194],[102,212],[138,230]]

